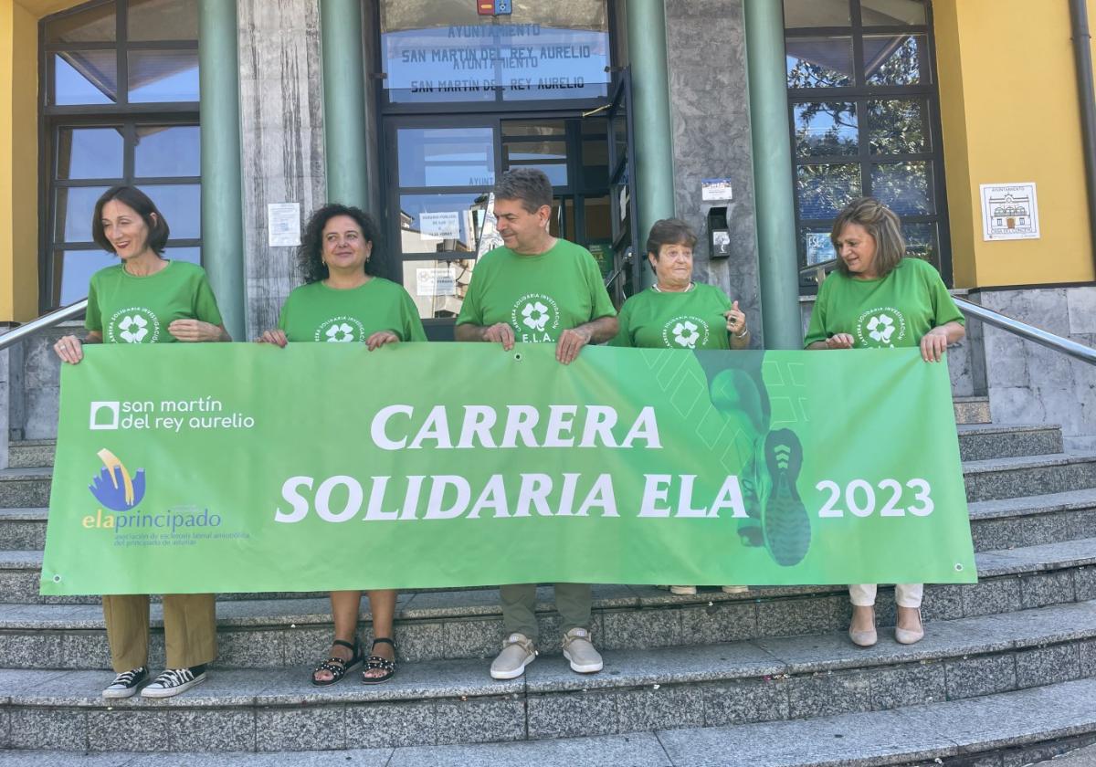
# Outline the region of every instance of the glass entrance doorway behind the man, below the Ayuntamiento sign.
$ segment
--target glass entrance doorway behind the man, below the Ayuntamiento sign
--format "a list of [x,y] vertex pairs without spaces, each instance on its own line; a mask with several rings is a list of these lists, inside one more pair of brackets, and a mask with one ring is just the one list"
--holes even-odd
[[387,275],[411,295],[427,337],[453,340],[496,173],[511,168],[548,175],[551,233],[613,272],[609,126],[603,113],[574,112],[387,119]]

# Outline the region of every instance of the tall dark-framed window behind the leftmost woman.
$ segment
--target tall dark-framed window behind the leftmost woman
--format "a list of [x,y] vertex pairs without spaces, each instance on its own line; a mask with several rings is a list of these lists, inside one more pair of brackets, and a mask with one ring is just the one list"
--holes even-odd
[[95,201],[140,186],[163,213],[164,255],[201,262],[197,0],[115,0],[42,22],[43,310],[87,296],[114,263],[91,239]]

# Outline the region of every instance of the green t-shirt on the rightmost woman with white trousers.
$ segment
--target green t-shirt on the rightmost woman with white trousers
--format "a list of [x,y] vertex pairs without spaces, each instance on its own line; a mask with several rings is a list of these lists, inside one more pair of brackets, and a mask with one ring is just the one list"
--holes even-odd
[[831,274],[819,288],[804,346],[848,333],[854,348],[916,346],[947,322],[963,322],[939,272],[926,261],[902,259],[881,279]]

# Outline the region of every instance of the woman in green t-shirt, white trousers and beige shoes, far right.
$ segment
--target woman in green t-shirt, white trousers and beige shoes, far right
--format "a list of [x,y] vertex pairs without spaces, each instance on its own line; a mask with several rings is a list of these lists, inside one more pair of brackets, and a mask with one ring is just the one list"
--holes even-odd
[[[921,259],[905,257],[899,218],[886,205],[861,197],[849,203],[830,234],[838,260],[822,283],[807,330],[807,348],[921,347],[937,363],[966,334],[963,316],[940,279]],[[849,639],[860,646],[878,641],[876,584],[848,587],[853,602]],[[925,636],[921,620],[924,584],[894,586],[894,638],[913,644]]]

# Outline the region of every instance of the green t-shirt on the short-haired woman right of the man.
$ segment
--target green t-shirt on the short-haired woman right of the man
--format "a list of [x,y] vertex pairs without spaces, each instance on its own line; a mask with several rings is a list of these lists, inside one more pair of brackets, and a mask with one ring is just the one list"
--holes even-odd
[[730,348],[727,318],[731,300],[715,285],[693,283],[685,293],[647,288],[620,307],[620,332],[610,346]]

